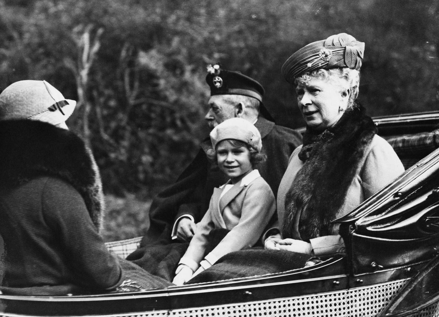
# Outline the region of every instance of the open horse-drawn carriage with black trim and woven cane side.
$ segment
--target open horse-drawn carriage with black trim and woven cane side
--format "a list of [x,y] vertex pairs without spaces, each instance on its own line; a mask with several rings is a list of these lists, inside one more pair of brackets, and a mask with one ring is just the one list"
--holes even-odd
[[[338,219],[345,257],[143,292],[0,295],[0,316],[439,316],[439,112],[374,121],[407,170]],[[126,257],[139,241],[107,246]]]

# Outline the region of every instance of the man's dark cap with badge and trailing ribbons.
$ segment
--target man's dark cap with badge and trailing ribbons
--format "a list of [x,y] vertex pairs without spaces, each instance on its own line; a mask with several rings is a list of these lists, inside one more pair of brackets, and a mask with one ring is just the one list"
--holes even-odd
[[206,82],[210,95],[243,95],[253,97],[260,102],[259,112],[267,119],[273,120],[262,102],[264,88],[259,82],[238,71],[223,70],[219,65],[208,65]]

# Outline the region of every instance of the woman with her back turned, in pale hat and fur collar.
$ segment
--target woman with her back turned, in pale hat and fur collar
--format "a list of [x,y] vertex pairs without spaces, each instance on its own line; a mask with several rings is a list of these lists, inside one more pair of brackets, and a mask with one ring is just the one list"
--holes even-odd
[[0,291],[67,295],[169,285],[105,247],[99,171],[65,124],[75,106],[46,81],[18,81],[0,94]]

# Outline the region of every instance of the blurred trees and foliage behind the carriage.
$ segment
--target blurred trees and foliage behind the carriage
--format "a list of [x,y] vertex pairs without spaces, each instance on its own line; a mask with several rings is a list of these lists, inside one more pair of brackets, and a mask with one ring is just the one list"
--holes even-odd
[[438,0],[0,0],[0,90],[45,79],[78,100],[68,124],[101,168],[104,237],[129,238],[207,134],[206,64],[261,82],[277,123],[296,128],[282,64],[347,32],[366,42],[359,99],[370,115],[436,110],[438,17]]

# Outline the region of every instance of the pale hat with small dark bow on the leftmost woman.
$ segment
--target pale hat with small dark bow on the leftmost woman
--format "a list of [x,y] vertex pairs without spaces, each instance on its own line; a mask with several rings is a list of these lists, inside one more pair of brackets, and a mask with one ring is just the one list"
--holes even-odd
[[38,120],[67,128],[65,120],[75,106],[47,81],[17,81],[0,94],[0,120]]

